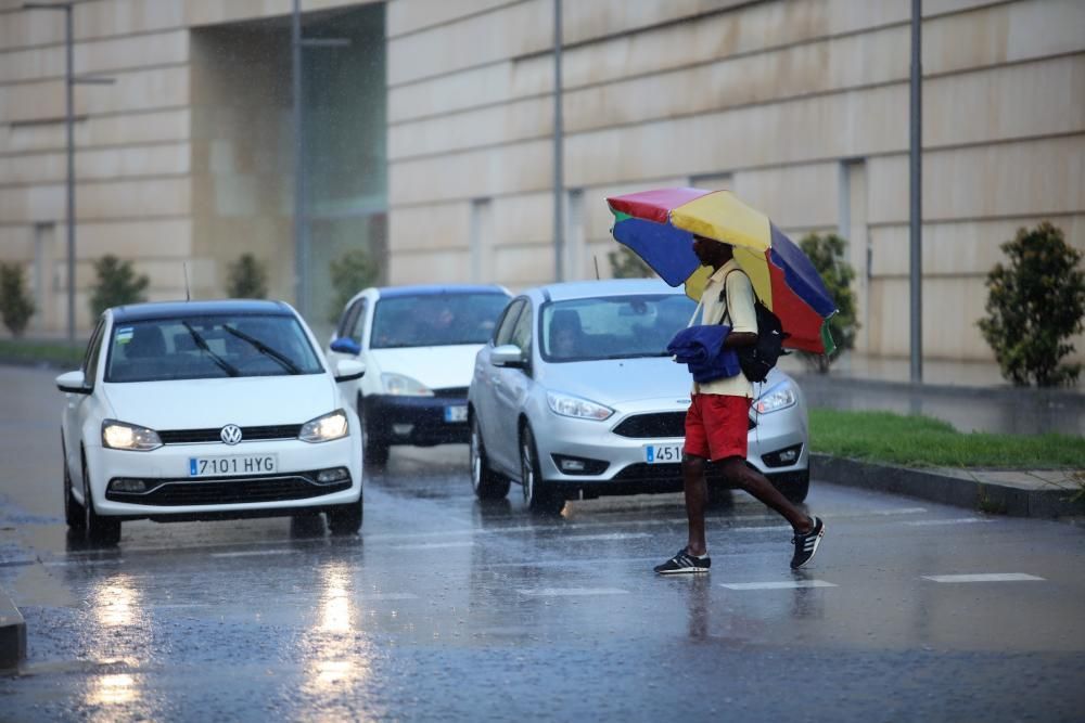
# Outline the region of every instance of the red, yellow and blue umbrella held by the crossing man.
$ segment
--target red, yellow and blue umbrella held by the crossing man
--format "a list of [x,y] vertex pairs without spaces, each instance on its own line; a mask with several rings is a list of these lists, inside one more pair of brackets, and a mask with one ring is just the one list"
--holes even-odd
[[768,218],[729,191],[660,189],[608,198],[614,238],[625,244],[672,286],[700,299],[712,268],[693,254],[693,234],[735,247],[735,260],[754,293],[790,336],[786,347],[829,353],[834,346],[826,321],[837,306],[802,250]]

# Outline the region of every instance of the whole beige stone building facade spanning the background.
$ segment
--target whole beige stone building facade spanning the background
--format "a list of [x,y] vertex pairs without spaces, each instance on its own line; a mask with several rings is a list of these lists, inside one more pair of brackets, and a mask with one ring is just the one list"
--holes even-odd
[[[362,5],[383,28],[379,52],[361,33],[327,62],[381,55],[383,98],[346,114],[381,145],[352,157],[366,164],[355,176],[380,180],[332,198],[350,177],[333,173],[314,191],[315,249],[349,247],[363,219],[390,283],[553,280],[553,2],[304,0],[328,31]],[[564,0],[565,277],[609,275],[608,195],[728,188],[793,236],[846,237],[858,348],[907,356],[910,4]],[[0,0],[0,257],[33,270],[36,323],[59,330],[62,23],[20,5]],[[77,72],[117,77],[77,89],[80,288],[112,250],[155,297],[177,297],[182,258],[202,294],[221,294],[226,264],[252,249],[292,299],[289,46],[275,35],[289,11],[77,7]],[[975,321],[998,245],[1050,220],[1085,249],[1085,2],[926,0],[923,13],[924,352],[986,360]],[[353,90],[328,77],[318,100],[334,115]]]

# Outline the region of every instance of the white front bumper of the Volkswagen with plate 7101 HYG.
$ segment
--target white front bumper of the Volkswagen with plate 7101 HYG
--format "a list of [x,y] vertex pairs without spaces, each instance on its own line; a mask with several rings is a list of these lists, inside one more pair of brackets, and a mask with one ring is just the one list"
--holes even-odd
[[[273,474],[192,477],[193,457],[276,455]],[[299,440],[166,444],[150,452],[87,448],[91,495],[99,515],[126,519],[216,519],[320,512],[361,496],[358,435],[310,444]],[[321,483],[318,473],[343,468],[344,478]],[[142,492],[111,488],[115,480],[140,480]]]

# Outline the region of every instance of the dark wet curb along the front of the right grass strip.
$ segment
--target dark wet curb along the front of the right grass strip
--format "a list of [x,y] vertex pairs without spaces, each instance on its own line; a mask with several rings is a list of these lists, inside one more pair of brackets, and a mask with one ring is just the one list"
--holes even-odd
[[843,487],[891,492],[1010,517],[1049,519],[1085,513],[1085,504],[1072,502],[1063,489],[1024,489],[967,475],[956,477],[936,470],[871,464],[828,454],[810,456],[818,478]]

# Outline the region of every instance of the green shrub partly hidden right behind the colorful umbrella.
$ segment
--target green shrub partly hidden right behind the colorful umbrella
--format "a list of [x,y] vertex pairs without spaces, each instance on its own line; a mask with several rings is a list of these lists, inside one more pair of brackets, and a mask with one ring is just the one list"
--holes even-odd
[[855,270],[844,260],[846,245],[847,242],[834,233],[810,233],[799,242],[799,247],[821,274],[826,289],[837,302],[838,311],[829,319],[829,333],[837,344],[835,350],[828,356],[799,352],[806,363],[821,374],[829,371],[829,365],[840,358],[842,351],[855,347],[855,332],[859,328],[855,320],[855,296],[852,294]]

